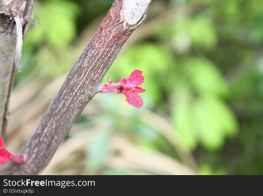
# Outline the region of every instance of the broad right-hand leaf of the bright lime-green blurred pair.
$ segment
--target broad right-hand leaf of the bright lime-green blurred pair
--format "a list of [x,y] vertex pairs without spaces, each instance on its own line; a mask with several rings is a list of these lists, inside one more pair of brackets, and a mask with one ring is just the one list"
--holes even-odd
[[225,136],[233,136],[237,132],[233,114],[223,101],[214,96],[196,100],[194,118],[200,141],[207,149],[219,149]]

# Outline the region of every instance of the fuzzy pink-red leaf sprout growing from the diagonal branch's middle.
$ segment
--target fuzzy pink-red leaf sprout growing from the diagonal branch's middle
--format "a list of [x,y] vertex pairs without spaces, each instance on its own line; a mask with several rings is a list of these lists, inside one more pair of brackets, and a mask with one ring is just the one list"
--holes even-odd
[[102,84],[102,93],[116,92],[122,93],[126,97],[126,101],[134,107],[142,107],[143,99],[137,92],[144,92],[145,88],[138,85],[143,84],[144,76],[141,70],[134,70],[128,78],[122,78],[119,83],[112,83],[111,78],[108,77],[109,83]]

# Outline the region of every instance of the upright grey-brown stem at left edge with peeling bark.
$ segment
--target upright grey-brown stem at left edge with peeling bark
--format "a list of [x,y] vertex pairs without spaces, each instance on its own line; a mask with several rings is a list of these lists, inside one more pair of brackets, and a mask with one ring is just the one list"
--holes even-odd
[[[23,38],[33,21],[33,0],[0,1],[0,131],[4,136],[15,68],[19,68]],[[17,28],[19,27],[19,28]]]

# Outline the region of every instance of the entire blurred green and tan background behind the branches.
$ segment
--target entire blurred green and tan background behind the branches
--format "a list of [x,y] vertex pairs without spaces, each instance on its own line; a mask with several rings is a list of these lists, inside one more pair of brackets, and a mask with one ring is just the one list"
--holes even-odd
[[[16,152],[113,0],[35,0],[10,99]],[[97,94],[41,174],[263,174],[263,1],[153,0],[103,82],[143,71],[144,105]]]

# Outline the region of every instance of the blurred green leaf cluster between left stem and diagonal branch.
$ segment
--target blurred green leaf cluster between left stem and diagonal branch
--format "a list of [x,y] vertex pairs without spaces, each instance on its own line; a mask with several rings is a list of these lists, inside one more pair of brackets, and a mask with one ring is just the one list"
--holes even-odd
[[37,26],[30,28],[25,44],[46,41],[51,47],[68,46],[76,35],[75,18],[80,8],[73,1],[47,1],[34,7]]

